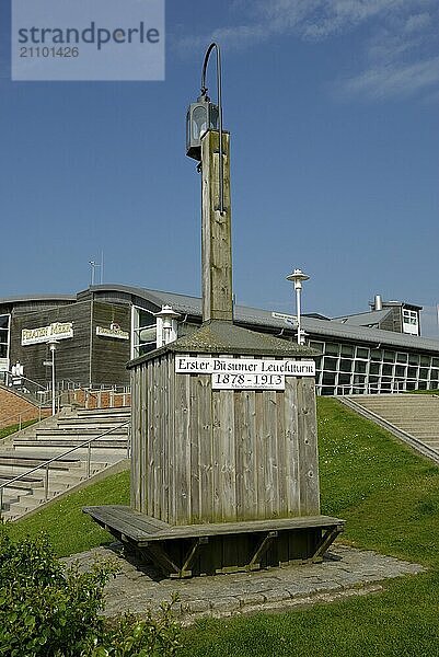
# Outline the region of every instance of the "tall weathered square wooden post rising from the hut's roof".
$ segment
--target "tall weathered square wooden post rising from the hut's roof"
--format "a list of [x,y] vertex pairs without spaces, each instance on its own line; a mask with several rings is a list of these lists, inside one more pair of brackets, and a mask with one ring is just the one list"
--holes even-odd
[[224,212],[219,211],[219,132],[201,141],[203,171],[203,322],[233,321],[230,211],[230,135],[222,135]]

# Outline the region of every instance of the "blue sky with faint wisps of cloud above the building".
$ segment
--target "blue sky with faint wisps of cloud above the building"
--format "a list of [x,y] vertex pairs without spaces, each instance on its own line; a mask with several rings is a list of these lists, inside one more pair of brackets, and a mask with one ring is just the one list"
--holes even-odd
[[199,293],[184,124],[217,39],[238,302],[293,312],[301,267],[304,312],[381,293],[439,337],[437,0],[167,0],[164,82],[11,82],[8,5],[0,297],[84,289],[101,251],[104,283]]

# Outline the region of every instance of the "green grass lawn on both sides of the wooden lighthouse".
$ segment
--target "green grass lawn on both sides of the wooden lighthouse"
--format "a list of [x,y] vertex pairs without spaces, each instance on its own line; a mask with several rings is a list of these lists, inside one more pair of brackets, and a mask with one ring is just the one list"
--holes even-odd
[[[203,621],[182,657],[439,656],[439,468],[336,400],[319,400],[322,512],[346,519],[344,540],[429,567],[384,591],[278,614]],[[89,486],[15,535],[46,528],[59,555],[108,541],[80,508],[126,504],[128,473]]]

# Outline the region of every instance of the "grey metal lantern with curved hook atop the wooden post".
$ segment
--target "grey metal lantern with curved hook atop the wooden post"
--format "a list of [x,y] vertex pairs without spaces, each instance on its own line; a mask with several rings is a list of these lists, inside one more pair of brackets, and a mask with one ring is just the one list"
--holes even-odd
[[[210,102],[207,95],[206,71],[212,50],[217,51],[217,97],[218,104]],[[201,161],[201,138],[208,130],[219,130],[219,211],[224,212],[224,162],[222,146],[222,80],[221,50],[212,43],[206,50],[201,72],[201,94],[196,103],[192,103],[186,115],[186,154],[198,162]]]

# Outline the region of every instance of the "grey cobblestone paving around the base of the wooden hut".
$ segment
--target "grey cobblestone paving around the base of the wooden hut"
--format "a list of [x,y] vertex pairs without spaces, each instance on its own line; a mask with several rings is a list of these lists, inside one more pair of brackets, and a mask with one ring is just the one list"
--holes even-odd
[[86,569],[96,556],[112,558],[120,567],[120,573],[106,586],[106,615],[125,611],[141,613],[147,608],[154,610],[176,592],[180,601],[174,611],[185,624],[205,615],[280,610],[368,595],[381,590],[379,583],[384,579],[425,570],[418,564],[338,544],[331,546],[322,564],[183,580],[159,579],[151,568],[139,567],[123,558],[117,544],[63,561],[68,564],[78,562],[80,569]]

